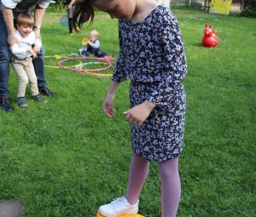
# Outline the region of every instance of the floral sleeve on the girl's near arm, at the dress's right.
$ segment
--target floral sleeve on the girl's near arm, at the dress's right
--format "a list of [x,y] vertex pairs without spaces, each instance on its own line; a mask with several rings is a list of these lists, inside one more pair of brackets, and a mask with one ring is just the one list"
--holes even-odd
[[157,89],[154,89],[153,93],[148,96],[147,100],[153,102],[156,106],[166,106],[172,100],[175,89],[180,87],[183,78],[187,74],[187,61],[177,19],[169,11],[168,14],[160,16],[158,22],[161,25],[156,33],[160,37],[165,63],[162,71],[162,80]]

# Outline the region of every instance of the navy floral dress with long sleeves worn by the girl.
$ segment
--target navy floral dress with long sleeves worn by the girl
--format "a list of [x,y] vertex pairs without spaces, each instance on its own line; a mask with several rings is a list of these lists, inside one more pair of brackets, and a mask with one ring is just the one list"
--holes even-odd
[[131,107],[145,100],[156,106],[142,126],[131,124],[135,154],[164,162],[183,151],[186,56],[177,19],[158,5],[142,22],[119,20],[119,58],[113,81],[131,79]]

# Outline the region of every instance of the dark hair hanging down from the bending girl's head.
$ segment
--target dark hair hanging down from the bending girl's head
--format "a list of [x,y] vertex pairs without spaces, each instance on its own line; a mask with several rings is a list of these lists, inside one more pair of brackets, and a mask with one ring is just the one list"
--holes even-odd
[[94,20],[94,8],[92,2],[96,0],[77,0],[73,12],[73,26],[81,27],[84,22]]

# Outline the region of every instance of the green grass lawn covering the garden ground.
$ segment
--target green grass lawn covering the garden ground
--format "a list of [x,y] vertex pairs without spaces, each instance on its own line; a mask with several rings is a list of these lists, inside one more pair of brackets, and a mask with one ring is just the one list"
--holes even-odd
[[[256,216],[256,21],[175,9],[189,64],[184,151],[180,157],[182,199],[177,216]],[[69,35],[60,14],[46,14],[46,55],[77,53],[91,29],[101,49],[118,54],[118,22],[96,14],[92,26]],[[218,30],[215,49],[201,47],[204,26]],[[55,66],[57,60],[46,58]],[[105,71],[110,73],[111,69]],[[0,111],[0,200],[20,198],[24,216],[91,217],[102,203],[125,193],[131,158],[129,82],[115,100],[116,116],[104,117],[109,77],[90,77],[46,67],[56,96],[27,109],[15,104],[17,80],[9,89],[15,111]],[[160,217],[160,180],[155,163],[140,197],[140,213]]]

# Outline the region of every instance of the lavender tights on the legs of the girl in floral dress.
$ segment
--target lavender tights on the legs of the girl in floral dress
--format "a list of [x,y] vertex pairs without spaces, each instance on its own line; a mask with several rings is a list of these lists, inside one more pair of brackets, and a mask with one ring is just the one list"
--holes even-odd
[[[161,180],[162,217],[175,217],[180,200],[181,187],[178,174],[178,158],[158,163]],[[129,182],[125,194],[129,203],[137,203],[137,199],[148,176],[148,161],[133,155],[131,158]]]

